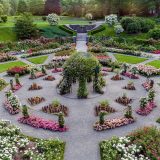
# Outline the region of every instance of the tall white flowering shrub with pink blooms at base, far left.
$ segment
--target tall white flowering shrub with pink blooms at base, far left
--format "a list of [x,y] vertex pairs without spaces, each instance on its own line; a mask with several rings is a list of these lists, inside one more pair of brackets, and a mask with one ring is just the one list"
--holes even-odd
[[20,112],[20,102],[16,95],[12,91],[6,93],[6,100],[4,102],[4,107],[12,115]]

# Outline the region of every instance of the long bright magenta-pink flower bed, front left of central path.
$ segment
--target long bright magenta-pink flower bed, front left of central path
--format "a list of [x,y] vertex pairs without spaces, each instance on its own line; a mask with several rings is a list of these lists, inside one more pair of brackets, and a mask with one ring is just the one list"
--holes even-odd
[[28,118],[21,117],[18,119],[18,122],[30,125],[35,128],[42,128],[50,131],[66,132],[68,130],[66,126],[64,128],[60,128],[57,122],[45,120],[35,116],[29,116]]

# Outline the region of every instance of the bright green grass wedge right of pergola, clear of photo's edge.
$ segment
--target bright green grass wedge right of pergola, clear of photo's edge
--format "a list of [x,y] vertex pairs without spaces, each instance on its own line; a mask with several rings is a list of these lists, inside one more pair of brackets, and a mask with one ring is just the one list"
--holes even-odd
[[137,64],[141,63],[147,60],[147,58],[139,58],[136,56],[126,56],[122,54],[114,54],[115,58],[117,61],[122,62],[122,63],[130,63],[130,64]]

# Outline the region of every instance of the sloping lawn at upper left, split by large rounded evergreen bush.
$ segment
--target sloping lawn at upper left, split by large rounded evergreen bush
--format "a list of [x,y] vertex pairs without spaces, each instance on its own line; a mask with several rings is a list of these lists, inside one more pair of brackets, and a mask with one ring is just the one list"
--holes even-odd
[[[15,17],[8,17],[7,23],[0,23],[0,41],[16,41],[16,34],[14,33],[14,23]],[[59,25],[50,26],[47,21],[43,21],[41,16],[33,17],[35,24],[41,31],[41,35],[46,38],[54,38],[54,37],[66,37],[72,36],[70,33],[59,28],[59,25],[64,24],[89,24],[83,18],[72,18],[72,17],[61,17],[59,21]]]

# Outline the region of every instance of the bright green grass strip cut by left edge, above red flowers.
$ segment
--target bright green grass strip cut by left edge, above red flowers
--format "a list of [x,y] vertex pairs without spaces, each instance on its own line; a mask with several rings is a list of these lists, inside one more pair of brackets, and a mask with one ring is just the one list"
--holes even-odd
[[7,63],[0,64],[0,73],[5,72],[8,69],[15,67],[15,66],[17,66],[17,67],[26,66],[26,64],[21,61],[7,62]]

